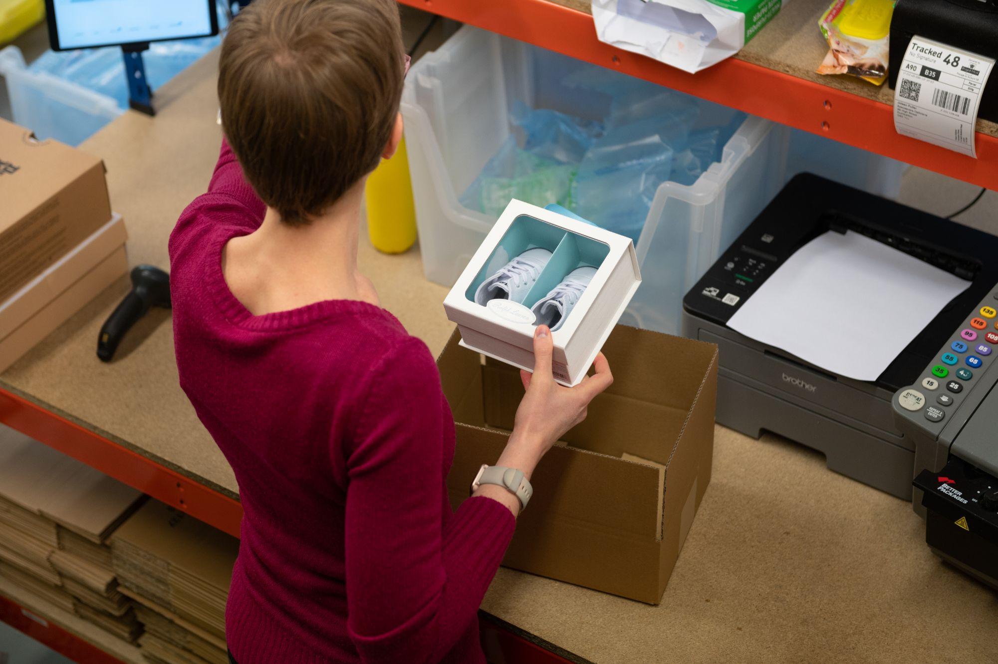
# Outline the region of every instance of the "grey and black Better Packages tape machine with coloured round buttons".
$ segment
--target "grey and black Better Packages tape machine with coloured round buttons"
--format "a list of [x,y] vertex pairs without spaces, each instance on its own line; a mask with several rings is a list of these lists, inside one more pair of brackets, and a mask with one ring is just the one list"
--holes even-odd
[[893,400],[915,444],[915,511],[942,558],[998,588],[998,286]]

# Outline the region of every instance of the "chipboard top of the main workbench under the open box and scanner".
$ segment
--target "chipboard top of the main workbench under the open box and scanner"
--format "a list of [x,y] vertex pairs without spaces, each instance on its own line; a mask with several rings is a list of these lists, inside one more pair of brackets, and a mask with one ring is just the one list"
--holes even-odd
[[[107,164],[133,264],[167,266],[173,223],[208,182],[216,65],[210,56],[165,88],[155,120],[128,113],[84,146]],[[359,260],[384,306],[441,349],[445,289],[423,279],[418,252],[382,256],[361,240]],[[114,363],[97,360],[97,331],[126,290],[87,305],[0,387],[236,496],[177,384],[168,312],[147,316]],[[720,427],[714,479],[661,606],[500,569],[484,608],[579,661],[998,660],[998,596],[929,552],[908,503],[799,446]]]

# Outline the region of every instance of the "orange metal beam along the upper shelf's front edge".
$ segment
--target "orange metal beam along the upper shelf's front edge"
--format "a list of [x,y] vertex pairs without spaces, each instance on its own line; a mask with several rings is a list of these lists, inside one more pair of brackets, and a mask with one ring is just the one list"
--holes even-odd
[[826,136],[914,166],[998,189],[998,138],[977,134],[974,160],[898,135],[893,109],[858,95],[729,59],[681,72],[596,38],[593,17],[548,0],[398,0],[424,11]]

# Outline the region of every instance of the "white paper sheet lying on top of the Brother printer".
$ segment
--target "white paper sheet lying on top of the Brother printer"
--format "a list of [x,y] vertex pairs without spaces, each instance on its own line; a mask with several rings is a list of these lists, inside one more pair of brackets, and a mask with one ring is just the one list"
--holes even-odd
[[728,325],[828,372],[872,381],[969,286],[860,233],[828,231],[789,256]]

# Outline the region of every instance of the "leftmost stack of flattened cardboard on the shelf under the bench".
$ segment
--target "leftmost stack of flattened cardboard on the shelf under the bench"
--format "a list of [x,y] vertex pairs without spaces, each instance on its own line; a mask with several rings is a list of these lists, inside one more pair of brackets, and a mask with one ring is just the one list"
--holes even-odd
[[89,466],[0,427],[0,574],[134,641],[142,626],[118,591],[106,540],[143,499]]

